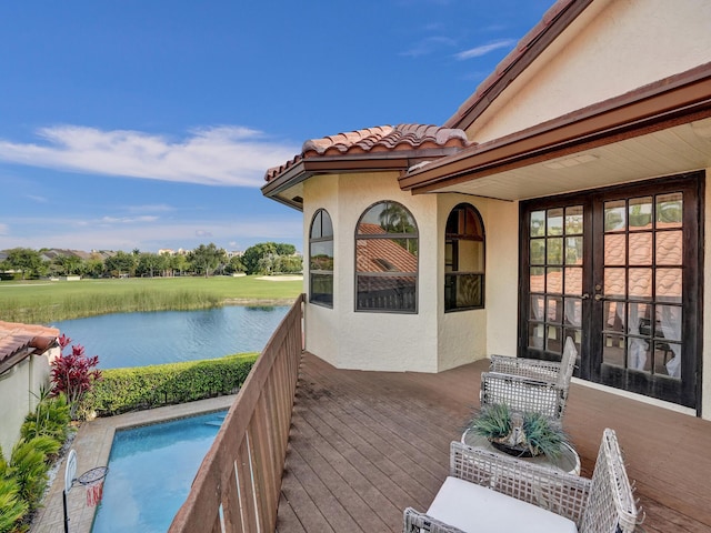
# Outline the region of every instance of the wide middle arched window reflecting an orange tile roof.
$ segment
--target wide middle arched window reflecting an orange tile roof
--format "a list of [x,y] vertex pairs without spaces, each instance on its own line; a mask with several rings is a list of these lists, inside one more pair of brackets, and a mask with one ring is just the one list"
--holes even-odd
[[400,203],[375,203],[358,221],[356,311],[418,312],[418,227]]

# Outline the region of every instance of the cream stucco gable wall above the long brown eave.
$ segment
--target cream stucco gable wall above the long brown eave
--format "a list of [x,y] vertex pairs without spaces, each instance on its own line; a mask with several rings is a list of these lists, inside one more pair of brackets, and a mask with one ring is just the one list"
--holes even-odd
[[709,61],[708,0],[595,0],[468,130],[503,137]]

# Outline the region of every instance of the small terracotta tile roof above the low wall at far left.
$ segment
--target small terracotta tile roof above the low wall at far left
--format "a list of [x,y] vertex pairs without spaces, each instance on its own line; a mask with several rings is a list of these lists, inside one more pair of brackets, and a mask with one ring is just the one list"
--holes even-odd
[[57,328],[0,321],[0,373],[30,353],[43,353],[59,336]]

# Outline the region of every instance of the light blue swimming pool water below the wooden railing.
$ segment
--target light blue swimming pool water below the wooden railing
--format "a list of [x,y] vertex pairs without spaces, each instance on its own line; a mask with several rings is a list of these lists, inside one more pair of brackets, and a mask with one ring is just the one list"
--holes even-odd
[[227,411],[117,431],[92,533],[164,533]]

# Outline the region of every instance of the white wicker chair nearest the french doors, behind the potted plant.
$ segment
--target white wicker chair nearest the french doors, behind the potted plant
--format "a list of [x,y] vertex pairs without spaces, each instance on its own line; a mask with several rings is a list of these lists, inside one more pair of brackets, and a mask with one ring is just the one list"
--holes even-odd
[[481,374],[481,405],[505,403],[513,411],[533,411],[561,420],[577,358],[570,336],[560,363],[492,355],[490,371]]

